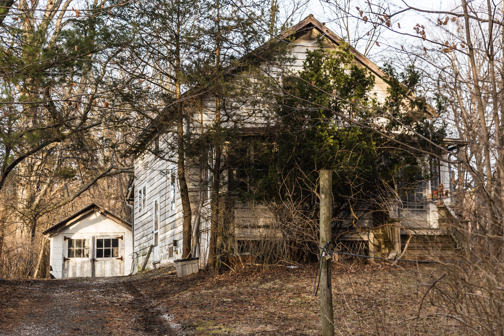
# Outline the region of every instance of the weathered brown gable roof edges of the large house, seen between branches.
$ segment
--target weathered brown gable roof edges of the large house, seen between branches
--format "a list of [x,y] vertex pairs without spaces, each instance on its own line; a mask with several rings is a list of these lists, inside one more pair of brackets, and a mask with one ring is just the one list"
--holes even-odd
[[[302,21],[281,33],[277,37],[277,39],[283,41],[290,37],[300,37],[301,35],[304,35],[312,29],[317,29],[321,33],[321,35],[324,35],[329,40],[331,40],[331,42],[335,43],[338,46],[341,44],[348,44],[347,42],[345,42],[345,40],[336,35],[329,28],[327,28],[325,23],[322,23],[319,20],[315,19],[312,14],[308,15]],[[265,45],[266,43],[257,47],[255,50],[261,50]],[[365,66],[365,68],[369,69],[375,76],[381,79],[387,76],[383,71],[380,70],[380,67],[378,65],[370,61],[366,56],[358,52],[354,47],[350,46],[350,51],[354,54],[355,59],[361,65]],[[162,120],[161,116],[167,112],[167,108],[160,111],[156,118],[154,118],[154,120],[147,126],[147,128],[137,137],[136,141],[119,157],[129,157],[142,148],[145,148],[145,146],[151,141],[151,138],[160,131],[159,125]],[[426,112],[430,115],[430,117],[437,117],[436,111],[429,104],[426,105]]]

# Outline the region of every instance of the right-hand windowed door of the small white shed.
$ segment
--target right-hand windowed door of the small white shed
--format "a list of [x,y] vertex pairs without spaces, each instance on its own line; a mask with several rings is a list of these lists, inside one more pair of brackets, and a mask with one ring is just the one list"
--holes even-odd
[[93,277],[124,275],[122,236],[93,237]]

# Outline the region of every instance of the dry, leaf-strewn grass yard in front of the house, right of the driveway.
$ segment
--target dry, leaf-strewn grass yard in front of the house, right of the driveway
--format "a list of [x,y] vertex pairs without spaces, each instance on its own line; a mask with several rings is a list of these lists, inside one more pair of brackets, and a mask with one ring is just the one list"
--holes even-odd
[[[432,282],[437,268],[403,266],[404,271],[381,264],[334,267],[336,334],[461,334],[453,320],[416,318],[426,291],[419,284]],[[320,297],[312,293],[315,272],[316,265],[201,272],[173,277],[150,290],[169,307],[174,322],[198,335],[320,335]],[[426,303],[422,315],[429,312]]]

